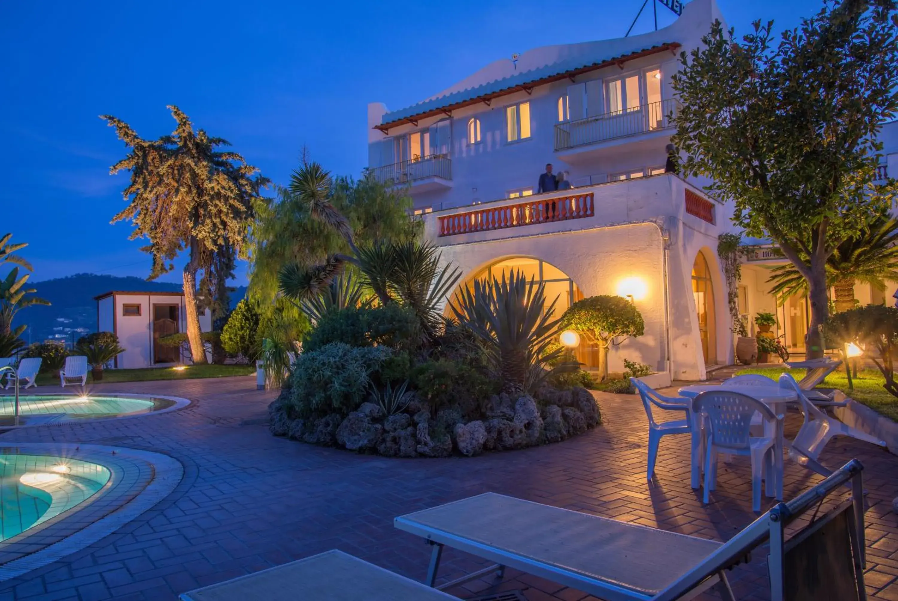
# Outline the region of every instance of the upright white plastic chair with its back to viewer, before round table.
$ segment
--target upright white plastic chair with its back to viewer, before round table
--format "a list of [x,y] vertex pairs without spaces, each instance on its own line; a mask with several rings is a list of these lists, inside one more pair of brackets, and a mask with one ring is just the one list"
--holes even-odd
[[[717,488],[718,453],[744,455],[752,460],[752,509],[761,510],[761,485],[764,467],[768,469],[769,488],[776,498],[783,498],[783,419],[767,405],[751,396],[725,390],[709,390],[696,396],[692,410],[703,414],[708,423],[705,455],[704,502]],[[774,436],[752,436],[754,414],[761,414],[762,422],[770,423]],[[772,457],[770,454],[772,453]],[[770,469],[772,468],[772,469]],[[770,487],[772,483],[772,487]]]

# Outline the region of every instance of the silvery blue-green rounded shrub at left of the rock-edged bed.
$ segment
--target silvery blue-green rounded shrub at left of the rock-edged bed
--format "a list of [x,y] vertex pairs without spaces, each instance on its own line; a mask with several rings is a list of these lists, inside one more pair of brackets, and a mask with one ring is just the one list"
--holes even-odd
[[371,375],[392,356],[388,346],[325,344],[296,358],[287,408],[294,417],[348,415],[365,400]]

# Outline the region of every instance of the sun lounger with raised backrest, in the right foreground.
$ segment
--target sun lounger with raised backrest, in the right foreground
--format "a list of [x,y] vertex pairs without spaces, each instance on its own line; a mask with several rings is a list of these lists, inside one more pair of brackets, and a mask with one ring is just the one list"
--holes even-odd
[[[394,526],[423,536],[433,545],[427,584],[436,583],[440,556],[445,545],[496,562],[497,565],[441,585],[452,588],[491,572],[511,567],[553,582],[577,588],[607,601],[676,601],[691,599],[717,585],[721,597],[735,599],[725,571],[744,562],[748,553],[770,541],[770,598],[782,601],[784,591],[795,586],[809,597],[822,598],[829,581],[817,583],[807,579],[796,584],[801,571],[784,568],[788,562],[805,562],[803,568],[835,575],[841,586],[863,585],[863,501],[857,460],[818,484],[797,499],[779,503],[756,519],[726,544],[695,536],[678,535],[651,527],[598,518],[531,501],[488,492],[454,501],[430,510],[417,511],[396,518]],[[807,510],[819,508],[828,494],[851,483],[852,497],[843,501],[837,513],[826,513],[811,526],[785,540],[783,529]],[[832,515],[831,515],[832,514]],[[801,536],[808,528],[820,528],[841,520],[836,527],[841,537],[832,538],[831,553],[816,553],[811,544],[802,546]],[[812,533],[813,534],[813,533]],[[849,541],[851,548],[835,548],[832,540]],[[791,544],[790,548],[788,544]],[[794,549],[801,553],[797,557]],[[790,554],[791,553],[791,554]],[[848,558],[847,560],[845,558]],[[832,562],[832,565],[826,563]],[[849,573],[850,572],[850,573]],[[822,579],[825,580],[825,579]],[[859,584],[858,584],[859,583]],[[814,588],[824,587],[824,588]],[[816,596],[814,596],[816,595]],[[833,597],[835,598],[835,597]],[[845,599],[865,597],[838,597]]]

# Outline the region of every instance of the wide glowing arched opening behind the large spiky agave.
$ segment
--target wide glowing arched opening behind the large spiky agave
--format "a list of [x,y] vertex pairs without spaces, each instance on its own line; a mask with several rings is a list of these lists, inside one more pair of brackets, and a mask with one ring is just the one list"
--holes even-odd
[[[583,292],[580,292],[577,283],[574,283],[568,274],[550,263],[531,257],[511,257],[491,263],[475,272],[461,286],[471,287],[476,280],[484,279],[495,278],[501,282],[503,275],[507,277],[513,271],[523,272],[527,280],[533,279],[536,283],[542,283],[547,305],[551,304],[556,297],[558,298],[555,302],[554,318],[560,318],[571,304],[583,299]],[[451,309],[447,307],[446,310]],[[580,338],[580,346],[574,354],[577,356],[577,361],[585,363],[587,367],[598,365],[597,351],[586,344],[585,337]]]

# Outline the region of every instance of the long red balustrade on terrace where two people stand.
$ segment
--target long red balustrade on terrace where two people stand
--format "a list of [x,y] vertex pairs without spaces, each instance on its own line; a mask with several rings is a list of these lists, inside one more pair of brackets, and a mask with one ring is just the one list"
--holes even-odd
[[502,205],[439,217],[439,235],[454,236],[474,231],[503,230],[536,223],[564,222],[592,217],[592,192],[555,198],[541,198],[516,205]]

